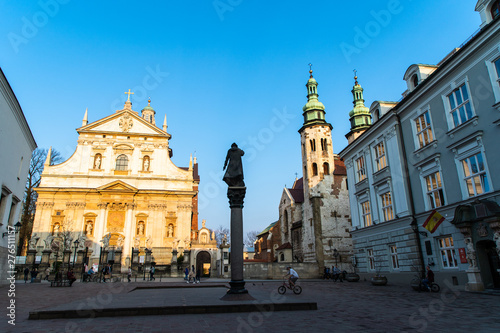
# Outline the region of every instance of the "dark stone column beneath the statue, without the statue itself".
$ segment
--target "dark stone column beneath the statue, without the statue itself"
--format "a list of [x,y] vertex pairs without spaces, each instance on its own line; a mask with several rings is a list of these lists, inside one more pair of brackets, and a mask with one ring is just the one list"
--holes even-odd
[[254,299],[248,295],[243,279],[243,199],[246,187],[229,186],[227,197],[231,208],[231,288],[221,298],[226,301]]

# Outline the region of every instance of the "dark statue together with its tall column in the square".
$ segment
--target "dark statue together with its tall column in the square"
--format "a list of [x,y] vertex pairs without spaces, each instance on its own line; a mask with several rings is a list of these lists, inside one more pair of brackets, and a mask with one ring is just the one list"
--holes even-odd
[[226,173],[222,180],[229,185],[227,197],[231,208],[231,281],[229,282],[231,289],[221,298],[224,301],[254,299],[245,289],[243,279],[243,199],[246,187],[243,181],[241,157],[244,154],[243,150],[233,143],[227,152],[223,167]]

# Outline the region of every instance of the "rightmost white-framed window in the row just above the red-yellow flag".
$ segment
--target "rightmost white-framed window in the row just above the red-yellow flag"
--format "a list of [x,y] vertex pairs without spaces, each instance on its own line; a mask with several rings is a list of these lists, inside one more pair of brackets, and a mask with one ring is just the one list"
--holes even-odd
[[488,184],[488,177],[486,176],[482,153],[477,153],[462,160],[462,167],[464,168],[464,180],[469,197],[489,192],[490,186]]

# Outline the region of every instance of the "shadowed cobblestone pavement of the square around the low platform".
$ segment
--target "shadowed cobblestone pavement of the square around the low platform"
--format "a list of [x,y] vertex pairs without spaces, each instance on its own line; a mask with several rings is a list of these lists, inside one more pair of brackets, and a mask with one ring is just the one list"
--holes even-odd
[[[202,283],[220,284],[210,279]],[[279,281],[247,281],[257,301],[276,301]],[[252,312],[171,316],[28,320],[33,310],[81,302],[81,307],[102,307],[137,286],[186,286],[181,279],[168,282],[75,283],[71,288],[50,288],[47,283],[16,284],[15,298],[6,297],[9,287],[2,285],[1,332],[500,332],[500,297],[450,290],[419,293],[404,286],[375,287],[368,282],[333,283],[301,281],[301,295],[286,294],[298,302],[315,301],[317,311]],[[196,288],[196,286],[193,286]],[[213,297],[212,288],[198,288],[195,299],[170,294],[165,304],[204,303]],[[166,289],[159,289],[158,293]],[[129,303],[133,303],[132,294]],[[206,296],[212,295],[212,296]],[[267,295],[263,296],[263,295]],[[222,296],[222,295],[221,295]],[[8,324],[9,300],[15,299],[16,325]],[[279,301],[279,300],[278,300]],[[126,302],[124,302],[126,303]],[[123,304],[131,306],[133,304]]]

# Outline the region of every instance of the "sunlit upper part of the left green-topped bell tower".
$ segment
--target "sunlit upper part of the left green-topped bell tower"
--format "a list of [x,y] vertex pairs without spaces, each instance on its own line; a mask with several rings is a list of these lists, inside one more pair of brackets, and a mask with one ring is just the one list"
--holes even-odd
[[318,100],[318,82],[312,73],[312,69],[309,70],[307,103],[302,108],[304,124],[299,130],[305,192],[314,188],[325,176],[331,175],[335,166],[332,125],[325,120],[325,106]]

